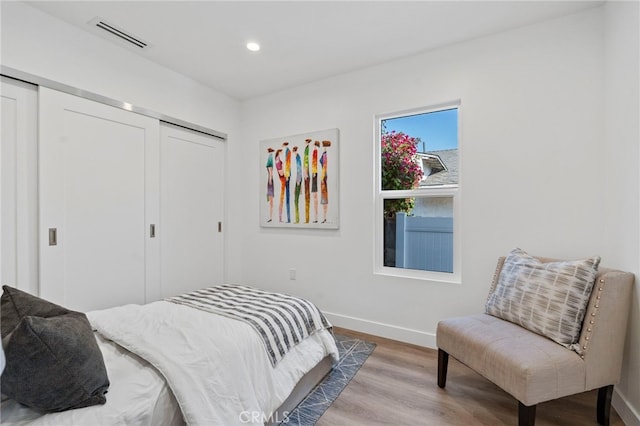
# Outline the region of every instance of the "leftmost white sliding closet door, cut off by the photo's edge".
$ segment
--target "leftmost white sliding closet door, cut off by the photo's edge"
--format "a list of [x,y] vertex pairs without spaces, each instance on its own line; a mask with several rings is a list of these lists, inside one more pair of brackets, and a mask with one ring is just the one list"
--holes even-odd
[[2,77],[2,284],[38,294],[36,86]]

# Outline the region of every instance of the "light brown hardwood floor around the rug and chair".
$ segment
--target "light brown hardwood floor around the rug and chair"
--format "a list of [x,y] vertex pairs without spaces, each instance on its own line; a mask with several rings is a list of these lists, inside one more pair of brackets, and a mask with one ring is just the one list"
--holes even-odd
[[[447,387],[438,388],[437,351],[338,327],[377,343],[318,426],[517,425],[518,402],[453,357]],[[597,391],[538,405],[536,426],[597,425]],[[611,409],[611,425],[624,423]]]

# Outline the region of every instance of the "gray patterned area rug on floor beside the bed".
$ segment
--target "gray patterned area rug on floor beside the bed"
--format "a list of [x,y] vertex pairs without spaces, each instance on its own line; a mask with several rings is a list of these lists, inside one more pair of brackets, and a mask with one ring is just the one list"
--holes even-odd
[[318,383],[309,395],[289,413],[286,421],[280,423],[281,425],[315,425],[376,347],[375,343],[341,334],[335,334],[335,338],[340,353],[338,365],[333,367],[322,382]]

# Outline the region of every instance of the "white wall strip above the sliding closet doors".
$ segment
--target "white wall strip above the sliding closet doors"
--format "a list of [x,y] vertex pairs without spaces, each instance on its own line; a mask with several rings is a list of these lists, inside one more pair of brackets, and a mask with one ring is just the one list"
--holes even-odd
[[238,103],[22,2],[1,2],[2,65],[225,133]]

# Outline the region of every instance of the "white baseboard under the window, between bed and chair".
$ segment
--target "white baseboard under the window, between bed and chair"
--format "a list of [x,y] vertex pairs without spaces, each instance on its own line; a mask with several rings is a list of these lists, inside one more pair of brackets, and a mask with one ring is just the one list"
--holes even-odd
[[324,312],[324,314],[331,324],[336,327],[348,328],[349,330],[359,331],[361,333],[373,334],[375,336],[386,337],[387,339],[399,340],[405,343],[436,349],[435,333],[426,333],[411,328],[398,327],[396,325],[331,312]]

